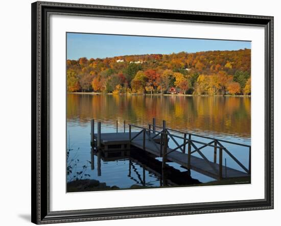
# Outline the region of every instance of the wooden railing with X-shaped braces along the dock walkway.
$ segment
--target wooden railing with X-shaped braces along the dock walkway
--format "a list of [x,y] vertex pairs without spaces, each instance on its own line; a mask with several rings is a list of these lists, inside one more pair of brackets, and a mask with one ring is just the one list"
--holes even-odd
[[[134,136],[131,137],[131,128],[138,128],[140,131]],[[153,128],[153,129],[151,129]],[[158,130],[157,130],[158,129]],[[183,136],[179,136],[176,134],[172,134],[172,132],[175,132],[177,134],[182,134]],[[166,121],[163,120],[163,126],[155,125],[153,124],[148,124],[148,128],[145,127],[140,127],[138,125],[134,124],[129,124],[129,137],[130,137],[130,142],[136,139],[140,134],[143,134],[143,149],[145,150],[146,145],[145,145],[145,140],[146,136],[147,138],[152,141],[153,145],[159,150],[163,162],[165,163],[167,161],[167,156],[171,154],[172,152],[175,152],[176,150],[180,149],[182,153],[186,153],[186,146],[188,147],[188,168],[191,168],[191,155],[194,153],[198,153],[202,159],[205,160],[206,164],[208,164],[210,167],[213,168],[214,171],[216,171],[219,175],[219,178],[223,178],[223,153],[227,154],[233,161],[235,161],[247,174],[250,175],[251,173],[251,146],[247,144],[241,144],[241,143],[236,143],[232,141],[227,141],[227,140],[221,140],[221,139],[216,139],[212,137],[206,137],[206,136],[201,136],[193,133],[188,133],[188,132],[182,132],[174,129],[170,129],[166,127]],[[154,141],[154,138],[160,135],[160,145]],[[193,137],[200,137],[204,139],[210,140],[210,142],[202,142],[195,140]],[[169,149],[168,151],[168,142],[169,138],[176,144],[176,147],[173,149]],[[177,141],[175,138],[182,140],[182,143]],[[180,144],[181,143],[181,144]],[[228,148],[226,148],[222,143],[229,143],[229,144],[234,144],[234,145],[239,145],[239,146],[244,146],[249,148],[249,166],[248,168],[243,165],[231,152],[229,152]],[[201,146],[198,146],[198,144],[201,144]],[[214,167],[214,164],[212,164],[211,161],[207,159],[207,157],[202,153],[202,149],[205,147],[213,147],[214,149],[214,163],[217,163],[217,150],[219,149],[219,169]],[[225,159],[225,170],[226,170],[226,159]],[[225,175],[227,172],[225,172]]]

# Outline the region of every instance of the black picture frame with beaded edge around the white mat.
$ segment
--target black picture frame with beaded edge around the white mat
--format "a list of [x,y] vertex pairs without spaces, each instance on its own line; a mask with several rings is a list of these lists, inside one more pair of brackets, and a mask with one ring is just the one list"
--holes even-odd
[[[35,2],[32,8],[32,222],[61,223],[273,209],[273,17]],[[105,16],[163,21],[259,26],[265,29],[265,198],[146,207],[50,211],[49,15]]]

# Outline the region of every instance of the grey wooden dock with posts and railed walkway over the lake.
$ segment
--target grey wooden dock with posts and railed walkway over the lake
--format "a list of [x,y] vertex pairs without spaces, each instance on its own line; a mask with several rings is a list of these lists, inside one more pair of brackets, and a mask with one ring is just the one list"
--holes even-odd
[[[118,129],[116,129],[116,133],[101,133],[101,122],[98,122],[98,133],[95,133],[94,124],[92,120],[91,145],[95,149],[102,150],[105,157],[116,150],[125,153],[138,148],[139,152],[142,150],[154,157],[162,157],[162,170],[167,169],[166,163],[170,161],[217,180],[250,176],[251,146],[249,145],[172,130],[166,127],[166,121],[163,121],[162,127],[159,127],[156,126],[155,119],[153,119],[153,124],[148,125],[148,128],[129,124],[129,132],[125,131],[124,122],[123,133],[118,133]],[[132,128],[137,131],[132,132]],[[198,137],[208,139],[210,142],[195,140]],[[174,142],[176,147],[170,148],[169,141]],[[222,143],[247,147],[249,149],[249,167],[246,168]],[[213,148],[214,159],[212,161],[202,153],[206,147]],[[199,154],[200,157],[194,156],[194,153]],[[241,170],[228,167],[226,159],[223,165],[223,154],[228,155]],[[219,159],[218,163],[217,159]]]

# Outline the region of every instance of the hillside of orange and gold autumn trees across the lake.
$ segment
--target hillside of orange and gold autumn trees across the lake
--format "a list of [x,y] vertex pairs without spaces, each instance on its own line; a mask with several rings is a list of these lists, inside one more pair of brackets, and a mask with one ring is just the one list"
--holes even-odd
[[150,54],[67,60],[68,92],[184,93],[251,92],[251,50]]

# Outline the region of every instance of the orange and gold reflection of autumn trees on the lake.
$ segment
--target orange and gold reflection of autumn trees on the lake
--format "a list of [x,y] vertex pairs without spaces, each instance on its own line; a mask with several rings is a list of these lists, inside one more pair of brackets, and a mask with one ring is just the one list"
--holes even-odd
[[155,117],[178,130],[250,136],[249,97],[67,95],[67,119],[86,125],[91,118],[146,126]]

